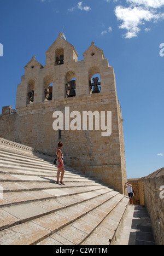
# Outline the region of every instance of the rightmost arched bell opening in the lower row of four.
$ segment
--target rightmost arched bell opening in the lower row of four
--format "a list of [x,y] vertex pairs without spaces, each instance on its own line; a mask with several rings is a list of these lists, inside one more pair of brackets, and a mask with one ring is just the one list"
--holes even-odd
[[89,88],[90,94],[98,94],[101,92],[101,78],[98,67],[91,67],[89,70]]

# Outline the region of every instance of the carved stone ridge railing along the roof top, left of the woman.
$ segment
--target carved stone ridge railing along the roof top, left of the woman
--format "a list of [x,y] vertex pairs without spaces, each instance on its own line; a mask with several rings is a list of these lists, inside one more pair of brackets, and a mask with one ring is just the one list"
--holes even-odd
[[37,154],[41,154],[41,155],[45,155],[45,156],[50,156],[51,158],[54,158],[54,155],[52,155],[52,154],[42,152],[40,150],[34,149],[32,147],[25,146],[25,145],[17,143],[17,142],[8,141],[8,139],[0,138],[0,145],[1,144],[13,147],[15,149],[21,149],[21,150],[25,150],[27,152],[37,153]]

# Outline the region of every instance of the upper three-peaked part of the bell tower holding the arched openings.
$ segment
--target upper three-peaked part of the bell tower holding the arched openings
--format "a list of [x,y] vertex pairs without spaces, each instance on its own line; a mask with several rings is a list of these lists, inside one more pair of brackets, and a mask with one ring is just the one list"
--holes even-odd
[[[33,56],[25,66],[21,84],[17,85],[17,110],[31,103],[42,104],[47,99],[55,102],[66,97],[89,96],[100,92],[96,85],[95,88],[92,87],[92,77],[95,74],[99,74],[98,85],[101,83],[102,94],[116,90],[113,67],[109,66],[103,50],[92,42],[83,54],[84,60],[78,61],[78,53],[74,46],[62,36],[60,33],[46,51],[44,67],[36,60],[36,56]],[[74,93],[71,89],[75,90]],[[73,94],[70,95],[70,92]]]

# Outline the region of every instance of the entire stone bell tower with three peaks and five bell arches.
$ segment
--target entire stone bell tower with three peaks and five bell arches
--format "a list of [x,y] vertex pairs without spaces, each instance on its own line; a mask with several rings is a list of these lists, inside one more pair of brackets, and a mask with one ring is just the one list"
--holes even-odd
[[[0,136],[51,154],[62,141],[67,165],[124,193],[123,120],[113,67],[93,42],[84,52],[84,60],[79,61],[74,46],[62,33],[45,54],[45,66],[35,56],[25,66],[17,85],[16,113],[5,107],[0,116]],[[65,113],[66,107],[70,113],[78,110],[81,121],[84,112],[92,112],[93,123],[97,120],[95,112],[111,112],[111,135],[102,137],[102,131],[95,128],[55,131],[53,114]]]

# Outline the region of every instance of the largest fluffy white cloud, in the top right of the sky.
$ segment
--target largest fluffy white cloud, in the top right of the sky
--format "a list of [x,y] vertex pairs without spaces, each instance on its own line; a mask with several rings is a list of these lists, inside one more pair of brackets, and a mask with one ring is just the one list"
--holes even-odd
[[[127,0],[133,2],[147,2],[147,0]],[[151,1],[151,0],[150,0]],[[161,0],[164,1],[164,0]],[[144,8],[142,6],[122,7],[118,5],[115,8],[116,18],[122,22],[119,28],[127,30],[125,38],[137,37],[140,31],[140,25],[144,25],[145,21],[156,22],[159,19],[164,19],[164,13],[156,13],[156,10]]]

